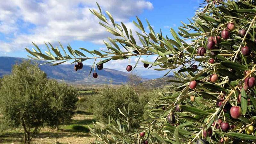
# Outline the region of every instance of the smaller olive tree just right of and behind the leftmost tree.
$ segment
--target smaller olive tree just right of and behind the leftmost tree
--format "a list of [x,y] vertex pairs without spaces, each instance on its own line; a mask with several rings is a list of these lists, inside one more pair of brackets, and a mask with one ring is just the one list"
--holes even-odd
[[60,123],[69,122],[74,115],[78,92],[74,87],[55,80],[49,80],[46,87],[50,96],[47,124],[58,130]]

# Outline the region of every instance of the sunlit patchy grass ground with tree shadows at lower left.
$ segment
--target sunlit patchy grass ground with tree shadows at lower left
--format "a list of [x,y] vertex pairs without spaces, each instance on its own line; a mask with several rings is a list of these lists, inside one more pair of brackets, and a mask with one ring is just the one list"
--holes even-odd
[[[77,111],[72,121],[60,125],[59,130],[44,127],[32,139],[32,144],[89,144],[94,138],[89,134],[88,126],[92,126],[93,115],[84,111]],[[23,131],[21,128],[0,132],[0,143],[21,144]]]

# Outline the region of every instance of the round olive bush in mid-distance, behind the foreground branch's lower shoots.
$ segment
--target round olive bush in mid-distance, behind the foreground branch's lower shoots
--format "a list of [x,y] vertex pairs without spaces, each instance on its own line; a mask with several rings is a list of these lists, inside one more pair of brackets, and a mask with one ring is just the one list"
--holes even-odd
[[94,116],[105,123],[108,122],[108,114],[113,119],[124,118],[118,108],[125,107],[129,110],[129,123],[131,127],[138,126],[138,121],[143,115],[143,106],[134,88],[123,85],[118,88],[106,87],[95,97]]

